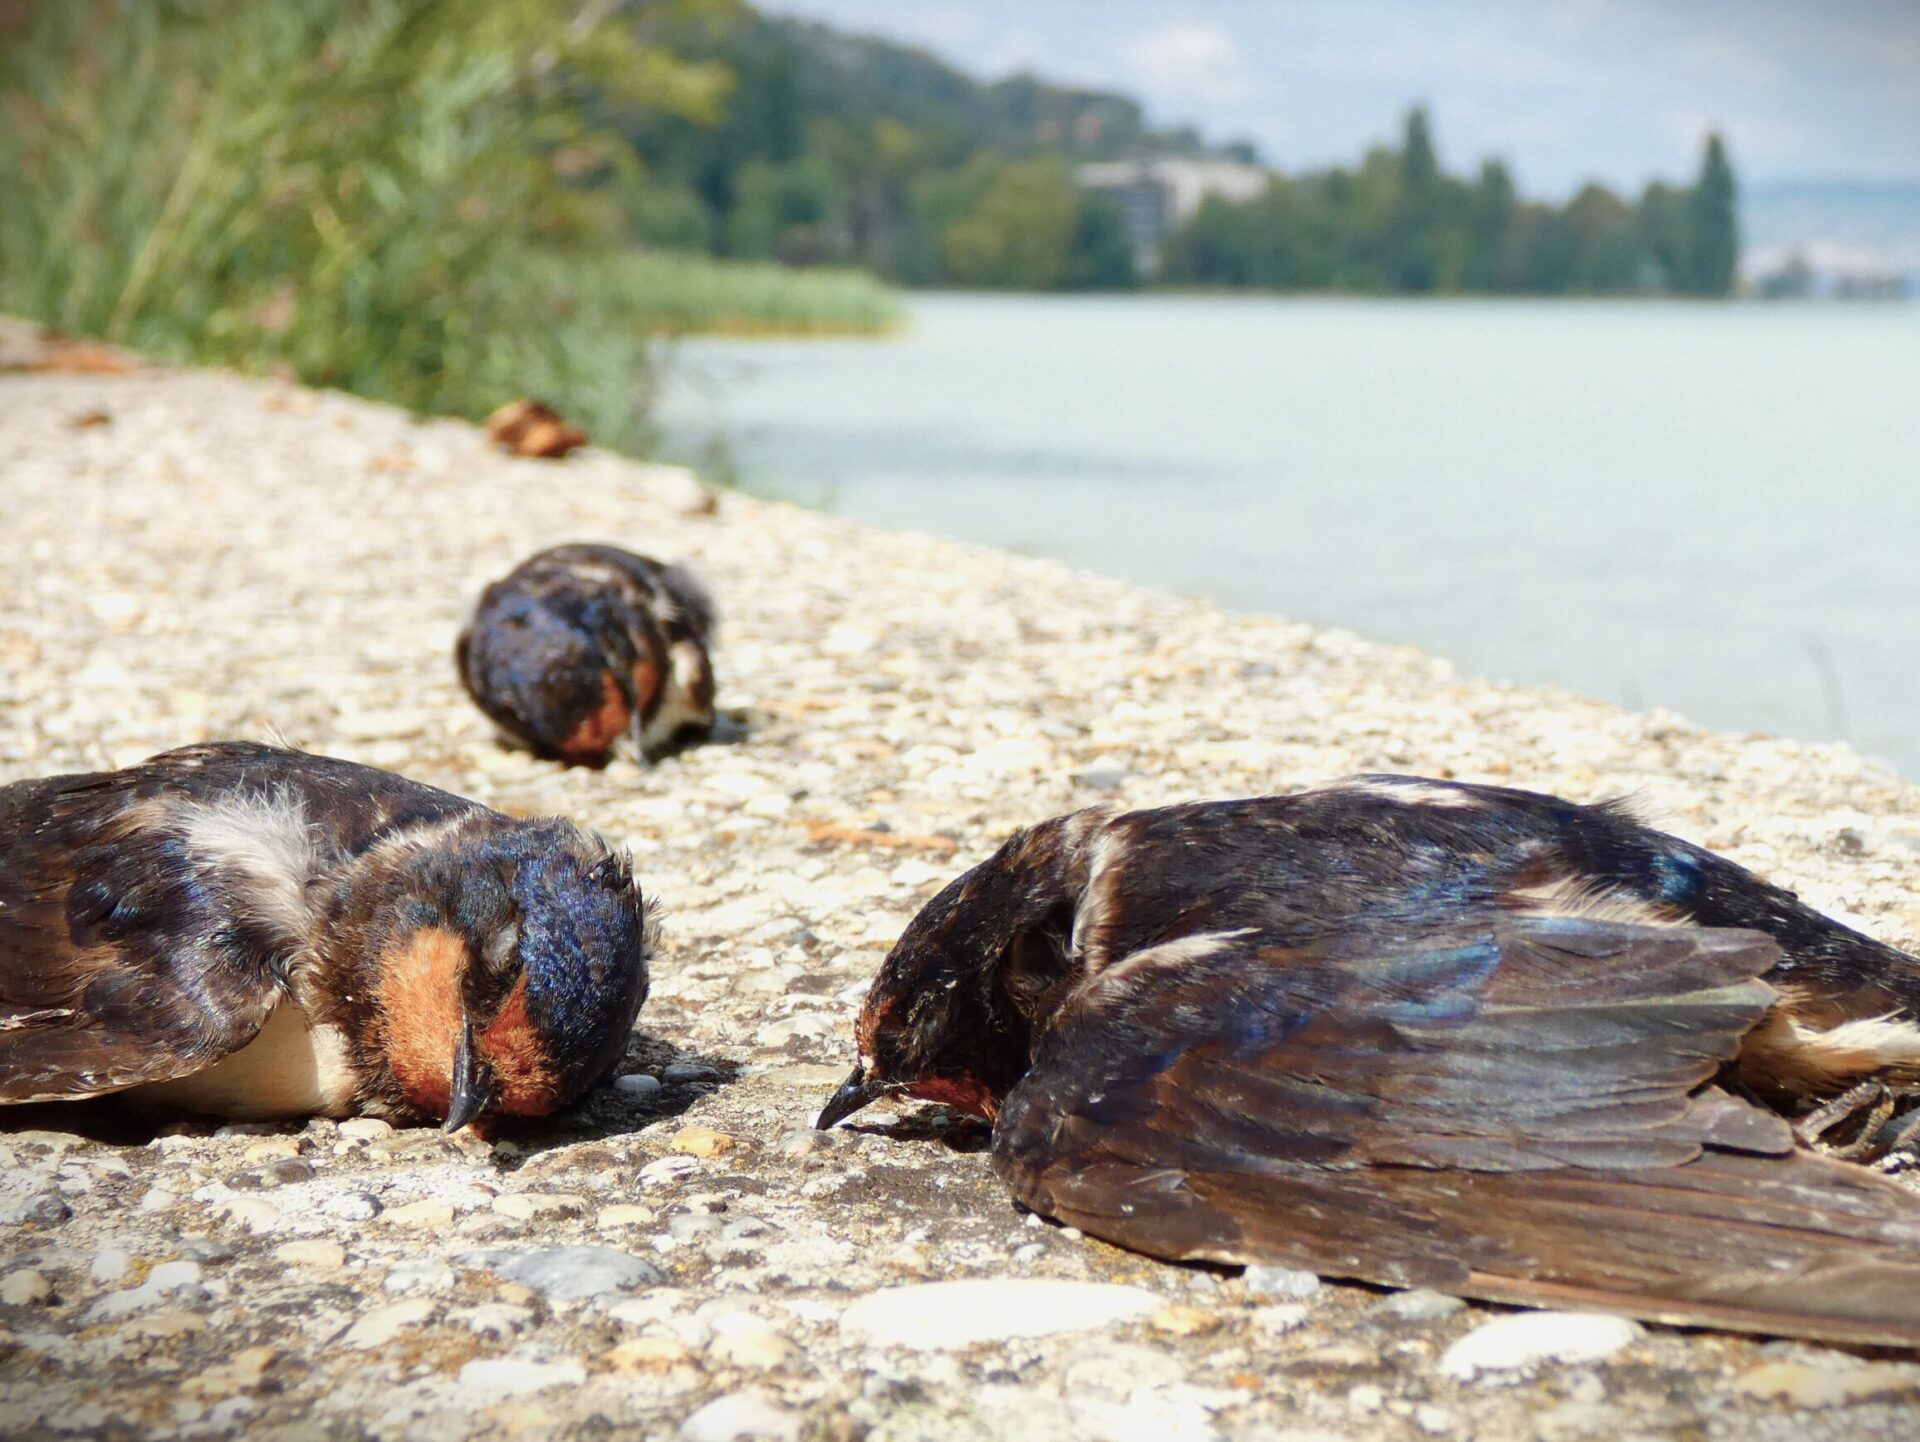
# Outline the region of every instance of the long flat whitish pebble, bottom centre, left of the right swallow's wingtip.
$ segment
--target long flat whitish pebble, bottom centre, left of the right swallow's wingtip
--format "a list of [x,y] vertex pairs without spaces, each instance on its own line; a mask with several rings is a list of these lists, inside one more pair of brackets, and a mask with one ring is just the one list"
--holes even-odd
[[1154,1292],[1114,1283],[1043,1277],[922,1283],[862,1296],[841,1313],[841,1333],[920,1352],[1016,1336],[1050,1336],[1137,1321],[1162,1306]]

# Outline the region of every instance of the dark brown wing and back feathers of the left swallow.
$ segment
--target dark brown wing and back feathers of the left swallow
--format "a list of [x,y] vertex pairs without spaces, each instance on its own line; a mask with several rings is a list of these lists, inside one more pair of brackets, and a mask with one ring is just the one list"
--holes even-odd
[[[236,799],[246,806],[227,814],[261,828],[261,845],[240,833],[228,841],[240,864],[223,866],[188,831]],[[276,818],[284,829],[296,816],[300,839],[328,856],[384,826],[470,806],[250,743],[0,787],[0,1102],[165,1081],[252,1041],[305,941],[292,906],[271,904],[307,879],[301,856],[273,854]]]

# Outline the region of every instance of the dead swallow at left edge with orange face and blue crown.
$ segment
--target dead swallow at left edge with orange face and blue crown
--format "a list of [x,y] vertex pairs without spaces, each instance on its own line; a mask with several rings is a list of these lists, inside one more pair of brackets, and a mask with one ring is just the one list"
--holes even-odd
[[0,787],[0,1102],[545,1116],[647,997],[632,870],[563,820],[244,741]]

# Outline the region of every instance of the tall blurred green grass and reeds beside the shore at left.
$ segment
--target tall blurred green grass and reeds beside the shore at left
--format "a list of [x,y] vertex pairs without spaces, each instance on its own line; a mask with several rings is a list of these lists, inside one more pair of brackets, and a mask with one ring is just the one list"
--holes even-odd
[[15,25],[0,309],[61,330],[415,411],[534,394],[634,445],[649,330],[858,309],[843,278],[618,253],[616,207],[568,177],[639,161],[580,96],[699,119],[730,84],[618,6],[38,0]]

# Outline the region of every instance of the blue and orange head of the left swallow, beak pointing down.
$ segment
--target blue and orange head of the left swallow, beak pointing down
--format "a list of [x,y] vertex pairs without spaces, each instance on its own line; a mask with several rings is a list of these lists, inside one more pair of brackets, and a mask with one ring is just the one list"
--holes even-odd
[[618,1066],[647,998],[634,874],[568,822],[465,818],[413,853],[380,950],[384,1050],[407,1100],[457,1129],[545,1116]]

